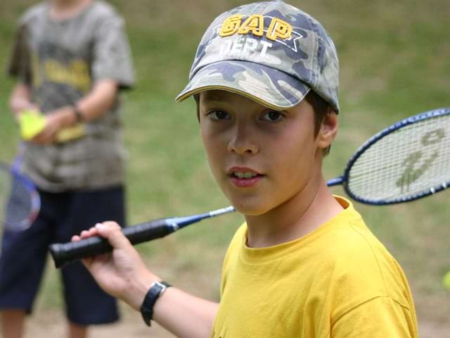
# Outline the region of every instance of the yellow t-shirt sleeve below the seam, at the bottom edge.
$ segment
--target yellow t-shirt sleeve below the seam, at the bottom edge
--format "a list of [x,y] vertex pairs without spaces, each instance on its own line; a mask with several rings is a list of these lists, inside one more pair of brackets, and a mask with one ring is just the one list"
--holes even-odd
[[411,309],[388,297],[366,301],[342,315],[331,327],[332,338],[416,338]]

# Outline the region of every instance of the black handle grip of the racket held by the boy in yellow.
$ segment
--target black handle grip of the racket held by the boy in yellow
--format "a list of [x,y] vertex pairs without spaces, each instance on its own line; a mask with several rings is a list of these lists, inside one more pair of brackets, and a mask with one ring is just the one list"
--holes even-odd
[[[124,227],[122,232],[134,245],[165,237],[177,229],[176,225],[171,225],[167,223],[166,219],[162,218],[134,225],[133,227]],[[73,261],[113,251],[113,246],[110,245],[107,239],[94,236],[80,239],[77,242],[54,243],[49,246],[49,251],[56,268],[62,268]]]

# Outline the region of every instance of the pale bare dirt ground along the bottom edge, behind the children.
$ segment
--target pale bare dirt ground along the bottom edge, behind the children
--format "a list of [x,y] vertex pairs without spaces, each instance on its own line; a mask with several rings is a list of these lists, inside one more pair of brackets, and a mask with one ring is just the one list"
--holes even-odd
[[[450,327],[436,323],[420,323],[420,338],[450,338]],[[42,311],[27,323],[27,333],[24,338],[60,338],[65,337],[63,315],[57,311]],[[122,321],[114,325],[92,327],[90,338],[169,338],[174,337],[167,331],[153,324],[147,327],[139,313],[122,306]],[[283,337],[284,338],[284,337]]]

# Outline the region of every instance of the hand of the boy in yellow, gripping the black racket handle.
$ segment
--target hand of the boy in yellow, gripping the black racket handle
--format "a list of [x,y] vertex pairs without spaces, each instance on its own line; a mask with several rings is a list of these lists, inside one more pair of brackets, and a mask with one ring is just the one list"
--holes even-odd
[[159,278],[148,271],[141,256],[131,246],[117,223],[98,223],[95,227],[84,230],[80,236],[72,237],[72,241],[91,236],[108,239],[113,252],[86,258],[83,260],[84,265],[105,292],[139,311],[150,285]]

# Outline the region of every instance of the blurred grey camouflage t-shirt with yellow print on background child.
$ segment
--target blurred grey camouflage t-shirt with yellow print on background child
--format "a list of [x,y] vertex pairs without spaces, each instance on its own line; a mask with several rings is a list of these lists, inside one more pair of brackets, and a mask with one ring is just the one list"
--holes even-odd
[[[96,80],[117,80],[120,89],[129,88],[134,70],[124,22],[103,1],[67,20],[51,19],[48,2],[33,6],[20,20],[9,73],[30,85],[43,113],[75,104]],[[46,146],[26,142],[23,172],[49,192],[122,184],[120,96],[110,111],[83,125],[83,137]]]

